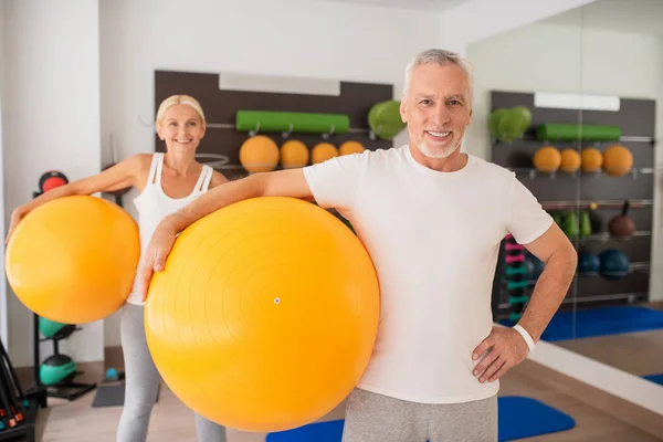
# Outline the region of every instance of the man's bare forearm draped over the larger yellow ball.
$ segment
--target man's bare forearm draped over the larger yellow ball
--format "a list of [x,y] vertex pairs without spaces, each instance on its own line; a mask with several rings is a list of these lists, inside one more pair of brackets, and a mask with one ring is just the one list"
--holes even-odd
[[182,209],[170,214],[165,221],[176,233],[179,233],[201,218],[225,206],[261,194],[262,179],[259,176],[229,181],[198,197]]

